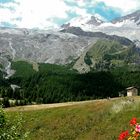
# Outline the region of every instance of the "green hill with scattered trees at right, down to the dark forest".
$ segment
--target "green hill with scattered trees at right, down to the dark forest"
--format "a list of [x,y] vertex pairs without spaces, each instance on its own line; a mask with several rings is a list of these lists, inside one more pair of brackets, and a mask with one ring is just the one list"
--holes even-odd
[[[125,67],[128,70],[137,70],[140,63],[140,50],[134,44],[124,45],[116,40],[98,40],[82,55],[84,69],[91,70],[112,70]],[[79,62],[78,62],[79,61]],[[80,63],[77,60],[76,63]],[[84,63],[84,64],[83,64]],[[80,67],[80,66],[79,66]],[[80,70],[74,66],[75,69]],[[84,72],[84,70],[80,72]]]

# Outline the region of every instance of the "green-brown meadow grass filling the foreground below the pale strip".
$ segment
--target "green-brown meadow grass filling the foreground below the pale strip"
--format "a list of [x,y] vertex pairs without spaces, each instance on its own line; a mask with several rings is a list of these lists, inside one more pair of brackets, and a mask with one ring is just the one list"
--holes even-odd
[[[140,119],[140,97],[21,113],[31,140],[116,140],[132,117]],[[12,120],[15,111],[8,114]]]

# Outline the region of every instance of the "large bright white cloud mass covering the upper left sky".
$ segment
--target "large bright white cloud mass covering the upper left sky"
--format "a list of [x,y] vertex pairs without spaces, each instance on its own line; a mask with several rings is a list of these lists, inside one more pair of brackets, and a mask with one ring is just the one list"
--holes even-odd
[[[21,28],[48,28],[57,27],[50,18],[67,18],[70,7],[62,0],[15,0],[19,4],[1,4],[6,9],[0,9],[0,21],[16,24]],[[8,9],[14,8],[14,10]],[[22,20],[16,20],[17,18]]]

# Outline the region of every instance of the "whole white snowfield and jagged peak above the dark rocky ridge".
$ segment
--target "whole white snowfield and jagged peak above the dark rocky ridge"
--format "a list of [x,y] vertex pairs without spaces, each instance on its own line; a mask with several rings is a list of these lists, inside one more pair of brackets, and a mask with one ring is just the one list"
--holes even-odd
[[103,32],[140,41],[140,10],[110,22],[105,22],[98,16],[77,17],[64,24],[61,30],[69,27],[80,27],[84,31]]

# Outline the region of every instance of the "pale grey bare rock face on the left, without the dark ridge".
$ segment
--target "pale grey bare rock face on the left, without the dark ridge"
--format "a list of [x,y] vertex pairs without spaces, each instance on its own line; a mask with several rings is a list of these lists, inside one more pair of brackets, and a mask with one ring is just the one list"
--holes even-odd
[[0,57],[7,60],[66,64],[87,45],[88,40],[69,33],[0,29]]

